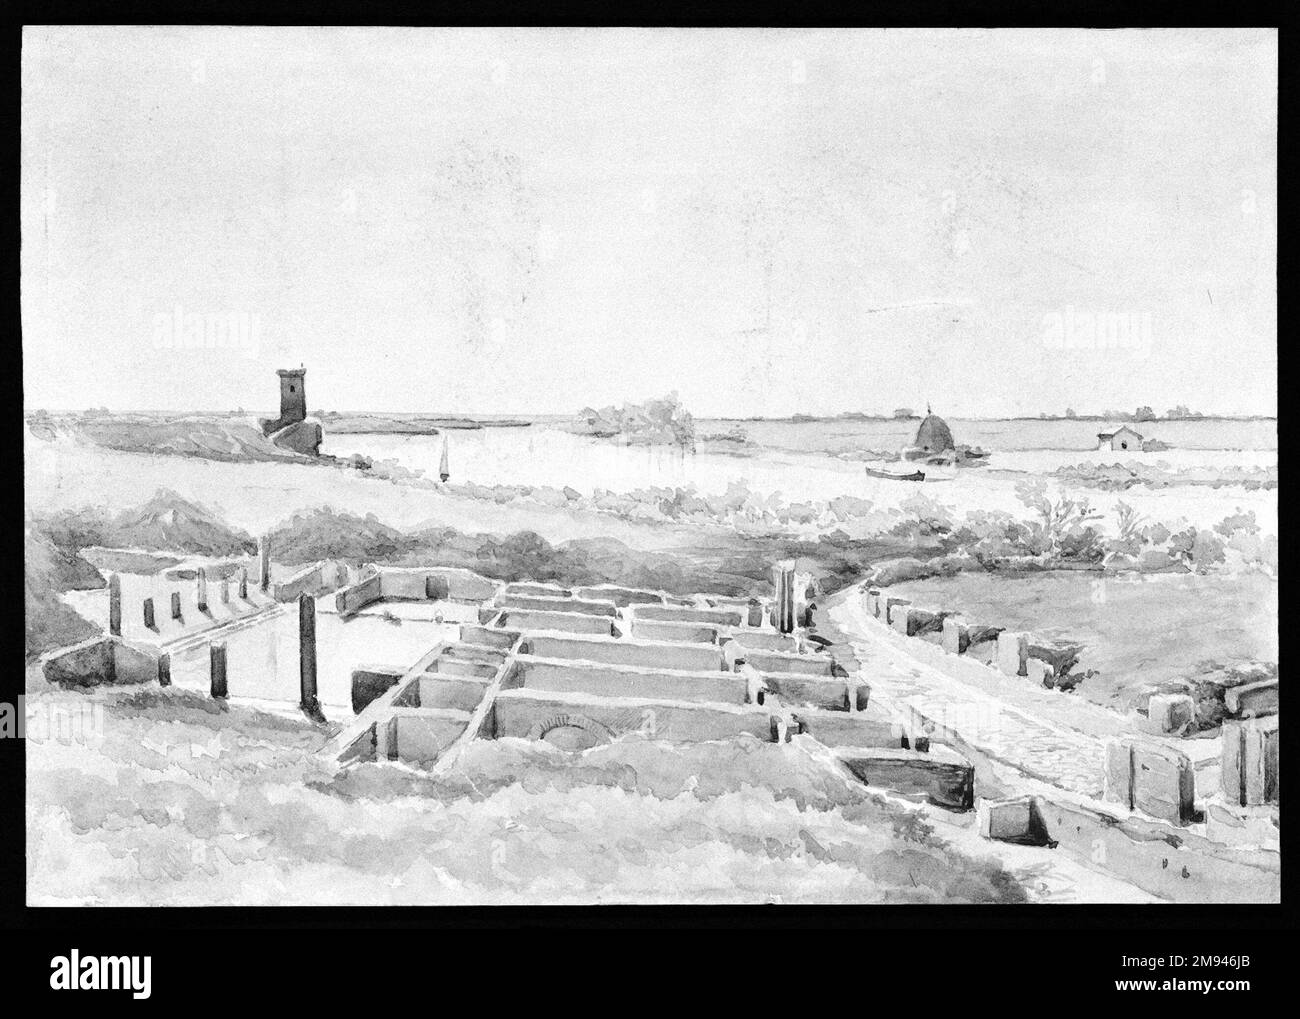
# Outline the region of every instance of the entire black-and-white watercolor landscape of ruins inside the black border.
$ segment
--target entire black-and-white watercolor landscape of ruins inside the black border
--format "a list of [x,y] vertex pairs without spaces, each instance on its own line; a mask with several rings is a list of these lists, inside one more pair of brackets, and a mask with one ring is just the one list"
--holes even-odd
[[26,29],[27,903],[1278,902],[1277,62]]

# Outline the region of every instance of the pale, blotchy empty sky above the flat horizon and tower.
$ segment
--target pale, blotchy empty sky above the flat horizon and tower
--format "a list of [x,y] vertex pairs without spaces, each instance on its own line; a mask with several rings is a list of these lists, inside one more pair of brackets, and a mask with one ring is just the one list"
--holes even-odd
[[1270,30],[29,27],[27,409],[1277,409]]

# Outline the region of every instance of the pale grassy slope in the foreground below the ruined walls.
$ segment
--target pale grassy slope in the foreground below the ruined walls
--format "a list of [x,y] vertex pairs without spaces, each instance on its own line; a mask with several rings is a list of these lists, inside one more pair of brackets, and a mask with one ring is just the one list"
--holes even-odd
[[[84,738],[32,717],[101,704]],[[30,905],[1019,902],[993,859],[796,745],[473,745],[452,776],[172,690],[29,695]]]

